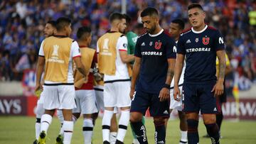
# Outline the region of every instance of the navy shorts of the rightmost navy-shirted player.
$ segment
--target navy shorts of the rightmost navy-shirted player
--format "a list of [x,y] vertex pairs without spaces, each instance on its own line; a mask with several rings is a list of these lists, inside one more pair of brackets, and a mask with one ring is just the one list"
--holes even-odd
[[183,83],[183,111],[185,113],[215,113],[221,112],[220,102],[211,92],[215,82],[207,84]]

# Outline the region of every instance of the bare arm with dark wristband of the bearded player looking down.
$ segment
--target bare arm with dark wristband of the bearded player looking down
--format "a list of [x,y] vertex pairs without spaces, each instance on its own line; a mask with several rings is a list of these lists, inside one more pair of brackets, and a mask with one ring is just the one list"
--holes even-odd
[[[171,79],[174,77],[174,66],[175,66],[175,59],[169,58],[168,60],[168,70],[167,70],[167,77],[166,77],[166,86],[171,84]],[[169,87],[163,87],[159,92],[159,99],[160,101],[166,101],[170,98],[170,89]]]

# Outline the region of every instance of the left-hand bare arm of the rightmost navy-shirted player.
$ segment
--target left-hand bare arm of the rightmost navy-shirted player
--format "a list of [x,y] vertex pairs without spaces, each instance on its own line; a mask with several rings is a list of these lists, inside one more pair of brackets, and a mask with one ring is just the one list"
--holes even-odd
[[176,57],[175,71],[174,71],[174,99],[176,101],[181,100],[181,92],[178,89],[178,82],[179,82],[179,79],[181,78],[184,57],[185,56],[183,54],[177,54],[177,57]]

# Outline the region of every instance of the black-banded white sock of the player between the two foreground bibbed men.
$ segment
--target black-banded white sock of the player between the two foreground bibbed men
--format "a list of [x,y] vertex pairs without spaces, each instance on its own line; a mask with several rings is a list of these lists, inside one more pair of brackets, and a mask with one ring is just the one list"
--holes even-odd
[[93,124],[91,118],[85,118],[82,125],[82,134],[84,136],[85,144],[92,143]]

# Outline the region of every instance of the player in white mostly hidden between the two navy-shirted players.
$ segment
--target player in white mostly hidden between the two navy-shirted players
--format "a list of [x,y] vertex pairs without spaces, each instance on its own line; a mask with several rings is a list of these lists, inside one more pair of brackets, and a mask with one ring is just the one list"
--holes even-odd
[[[176,43],[178,43],[178,37],[182,33],[184,27],[185,27],[185,23],[181,19],[175,19],[174,21],[171,21],[170,27],[169,27],[169,33],[175,38]],[[183,65],[181,79],[178,82],[178,88],[180,90],[182,89],[182,85],[183,85],[184,72],[185,72],[185,64]],[[170,95],[170,98],[171,98],[170,113],[173,109],[176,109],[178,111],[178,118],[180,119],[181,140],[179,143],[180,144],[187,143],[188,126],[186,123],[186,114],[182,112],[182,101],[174,100],[174,96],[173,96],[174,95],[174,79],[171,81],[170,94],[171,94]],[[166,121],[166,124],[167,124],[167,121]]]

